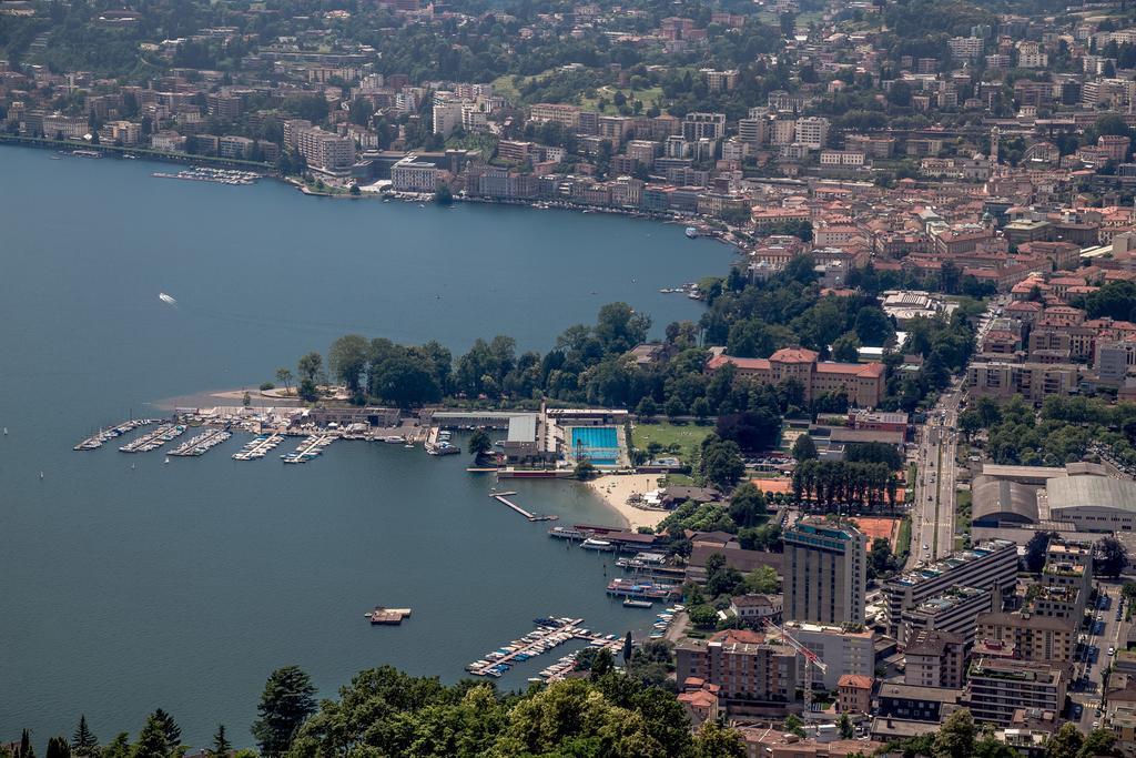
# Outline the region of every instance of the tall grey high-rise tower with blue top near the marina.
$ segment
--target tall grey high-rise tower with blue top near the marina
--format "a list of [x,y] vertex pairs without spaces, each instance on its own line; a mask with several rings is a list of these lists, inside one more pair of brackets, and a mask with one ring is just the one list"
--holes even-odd
[[804,517],[785,542],[785,618],[817,624],[863,624],[868,538],[851,524]]

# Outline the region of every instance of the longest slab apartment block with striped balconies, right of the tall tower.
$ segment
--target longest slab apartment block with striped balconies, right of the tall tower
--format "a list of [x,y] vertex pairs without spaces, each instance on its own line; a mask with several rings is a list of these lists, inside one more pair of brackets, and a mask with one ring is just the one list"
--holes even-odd
[[944,595],[952,588],[975,588],[1001,594],[1014,586],[1017,577],[1018,545],[1009,540],[983,542],[930,566],[894,576],[882,588],[887,633],[899,634],[904,610]]

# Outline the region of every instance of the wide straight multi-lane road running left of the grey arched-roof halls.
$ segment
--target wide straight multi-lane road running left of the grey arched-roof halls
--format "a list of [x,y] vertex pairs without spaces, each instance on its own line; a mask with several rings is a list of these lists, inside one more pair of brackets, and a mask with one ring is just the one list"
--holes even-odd
[[[980,320],[977,342],[989,331],[992,311]],[[955,458],[959,448],[959,405],[962,401],[964,378],[957,378],[943,391],[927,423],[919,430],[914,455],[916,491],[911,508],[911,553],[907,568],[919,563],[945,558],[954,551],[954,523],[957,498]]]

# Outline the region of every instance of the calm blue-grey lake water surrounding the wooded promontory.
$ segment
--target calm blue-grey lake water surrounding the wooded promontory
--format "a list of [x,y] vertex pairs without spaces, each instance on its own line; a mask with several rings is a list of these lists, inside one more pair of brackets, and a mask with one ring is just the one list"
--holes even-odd
[[[28,727],[42,750],[85,713],[109,741],[161,707],[191,744],[217,723],[249,744],[282,665],[333,694],[381,664],[457,680],[535,616],[649,625],[604,597],[610,557],[487,498],[465,456],[336,442],[304,466],[239,463],[239,434],[164,465],[72,445],[159,399],[256,386],[346,332],[546,350],[625,300],[661,333],[700,306],[658,290],[724,273],[725,247],[613,216],[312,199],[52,156],[0,148],[0,740]],[[577,485],[510,489],[562,523],[613,520]],[[373,628],[375,605],[414,616]]]

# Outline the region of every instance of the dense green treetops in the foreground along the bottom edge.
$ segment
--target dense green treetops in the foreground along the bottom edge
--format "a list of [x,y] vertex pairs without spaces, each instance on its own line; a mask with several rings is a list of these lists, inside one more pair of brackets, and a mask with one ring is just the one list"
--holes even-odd
[[[658,650],[636,650],[623,661],[625,669],[615,667],[608,651],[582,656],[583,678],[524,693],[500,693],[491,684],[468,680],[445,685],[436,677],[382,667],[357,674],[337,699],[318,703],[308,675],[289,666],[273,673],[261,694],[259,717],[251,727],[257,751],[234,755],[231,734],[218,726],[206,753],[212,758],[744,758],[737,732],[709,722],[692,733],[674,693],[644,680],[660,666]],[[662,656],[669,661],[669,652],[663,650]],[[119,733],[100,743],[83,717],[70,740],[50,738],[44,755],[178,758],[186,750],[177,722],[159,708],[133,741]],[[35,745],[25,731],[16,750],[0,748],[0,756],[34,758]]]

